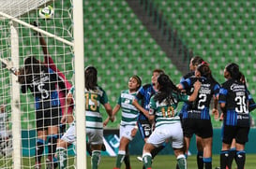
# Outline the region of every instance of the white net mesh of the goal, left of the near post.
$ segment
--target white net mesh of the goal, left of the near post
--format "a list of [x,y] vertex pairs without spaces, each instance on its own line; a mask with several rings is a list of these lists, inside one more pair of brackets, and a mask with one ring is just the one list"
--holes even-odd
[[[53,17],[50,19],[44,19],[39,16],[39,8],[53,7]],[[8,14],[10,18],[24,21],[25,23],[32,24],[34,21],[38,23],[38,28],[65,39],[69,42],[73,39],[73,27],[72,27],[72,2],[71,1],[56,1],[49,0],[23,0],[23,1],[1,1],[0,12]],[[40,45],[38,33],[33,29],[30,29],[27,25],[16,23],[10,18],[3,17],[0,13],[0,58],[7,59],[13,63],[17,62],[13,60],[11,56],[11,39],[10,39],[10,26],[13,24],[19,34],[19,67],[23,67],[23,60],[29,56],[36,57],[41,63],[45,63],[45,55]],[[59,41],[56,38],[48,35],[42,35],[46,42],[46,48],[48,53],[53,59],[53,63],[64,74],[68,82],[71,84],[73,76],[72,58],[73,49],[66,43]],[[0,126],[0,134],[2,132],[8,132],[8,141],[5,141],[1,137],[0,143],[0,168],[12,168],[12,147],[11,147],[11,112],[12,107],[10,105],[11,100],[11,74],[7,68],[3,65],[0,67],[0,107],[5,106],[5,115],[7,118],[4,121],[2,129]],[[35,113],[35,98],[29,91],[20,94],[21,102],[20,106],[21,115],[21,133],[22,133],[22,166],[21,168],[35,167],[35,154],[37,143],[37,126],[36,126],[36,113]],[[0,120],[1,119],[0,114]],[[19,129],[17,129],[19,130]],[[3,134],[2,134],[3,135]],[[48,141],[48,139],[46,140]],[[6,145],[6,146],[5,146]],[[45,160],[48,154],[47,142],[43,152],[41,160],[41,167],[46,166]],[[70,154],[74,154],[73,150],[69,150]],[[69,167],[73,167],[73,158],[70,156]]]

